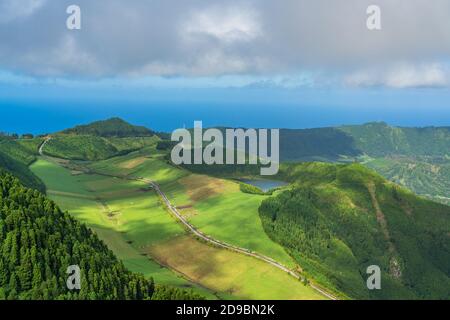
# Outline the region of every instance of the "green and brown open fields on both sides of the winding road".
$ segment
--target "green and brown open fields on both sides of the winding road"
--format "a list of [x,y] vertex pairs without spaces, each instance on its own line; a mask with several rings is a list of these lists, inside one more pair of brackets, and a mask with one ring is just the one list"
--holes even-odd
[[[160,154],[149,157],[135,152],[90,167],[108,174],[154,179],[177,204],[197,199],[192,210],[198,213],[192,222],[202,231],[293,266],[290,257],[271,242],[259,222],[257,207],[264,197],[241,193],[237,183],[190,175],[167,164]],[[224,299],[322,298],[279,269],[188,236],[153,191],[141,182],[71,172],[43,159],[31,168],[46,183],[54,201],[95,230],[130,270],[151,275],[157,283],[194,287],[208,298],[214,298],[213,293]],[[207,192],[212,197],[199,196],[207,191],[199,188],[204,182],[207,189],[212,188],[212,193]],[[245,205],[239,206],[239,202]],[[218,203],[222,209],[213,210]],[[181,211],[188,214],[189,208]],[[233,229],[242,231],[233,234]]]

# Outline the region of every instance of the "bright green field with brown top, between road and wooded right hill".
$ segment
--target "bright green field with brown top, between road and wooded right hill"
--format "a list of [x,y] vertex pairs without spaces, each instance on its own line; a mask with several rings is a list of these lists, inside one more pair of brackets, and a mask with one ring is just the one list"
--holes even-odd
[[[295,266],[285,250],[264,232],[258,208],[266,196],[243,193],[236,182],[203,175],[183,178],[181,184],[189,190],[194,212],[189,215],[189,221],[197,228],[214,238],[267,255],[288,267]],[[198,194],[204,194],[205,186],[211,188],[206,192],[208,196],[199,197]]]

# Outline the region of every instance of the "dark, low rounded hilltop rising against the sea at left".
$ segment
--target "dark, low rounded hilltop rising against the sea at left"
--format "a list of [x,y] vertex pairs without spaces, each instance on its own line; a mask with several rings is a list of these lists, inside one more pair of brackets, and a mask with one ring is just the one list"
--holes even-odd
[[142,127],[134,126],[120,118],[96,121],[87,125],[76,126],[62,131],[63,134],[92,135],[98,137],[150,137],[154,132]]

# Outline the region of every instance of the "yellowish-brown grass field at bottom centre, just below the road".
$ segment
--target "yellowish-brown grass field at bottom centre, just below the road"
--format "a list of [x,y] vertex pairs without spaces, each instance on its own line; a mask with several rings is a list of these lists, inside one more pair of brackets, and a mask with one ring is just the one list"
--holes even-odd
[[213,248],[189,236],[150,247],[148,251],[195,282],[234,298],[323,299],[311,287],[267,263]]

